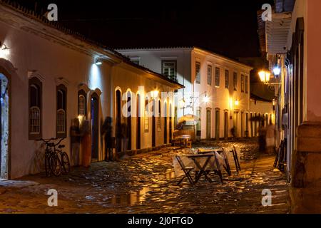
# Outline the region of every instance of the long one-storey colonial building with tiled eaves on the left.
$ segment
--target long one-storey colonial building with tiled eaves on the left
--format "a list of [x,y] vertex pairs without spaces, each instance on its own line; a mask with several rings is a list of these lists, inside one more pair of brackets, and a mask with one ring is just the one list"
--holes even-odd
[[[156,91],[183,86],[49,24],[43,16],[0,3],[0,179],[41,171],[44,147],[39,138],[66,138],[63,144],[69,152],[74,118],[91,120],[93,161],[104,159],[101,124],[108,116],[113,118],[114,135],[121,123],[127,124],[128,150],[170,141],[175,103],[171,97],[159,99]],[[125,118],[121,110],[128,102],[132,116]],[[161,107],[168,115],[147,115],[146,103],[156,103],[155,110]],[[142,114],[137,118],[136,113]]]

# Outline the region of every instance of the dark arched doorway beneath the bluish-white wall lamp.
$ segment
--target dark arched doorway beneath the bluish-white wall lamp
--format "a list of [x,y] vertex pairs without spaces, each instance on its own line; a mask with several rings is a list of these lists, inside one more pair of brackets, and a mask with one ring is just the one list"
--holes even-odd
[[99,100],[98,95],[91,95],[91,158],[98,160],[99,142]]

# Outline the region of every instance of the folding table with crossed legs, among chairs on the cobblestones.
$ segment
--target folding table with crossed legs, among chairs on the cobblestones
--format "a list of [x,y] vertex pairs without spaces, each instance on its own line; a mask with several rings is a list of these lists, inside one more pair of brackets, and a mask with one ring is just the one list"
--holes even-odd
[[[220,182],[223,183],[223,176],[222,176],[222,172],[220,170],[220,164],[218,162],[218,157],[216,156],[216,152],[210,152],[210,153],[200,154],[200,155],[187,155],[186,157],[193,160],[196,167],[199,169],[199,171],[196,172],[196,174],[195,174],[194,184],[196,184],[198,182],[198,180],[200,180],[200,177],[202,177],[202,175],[205,177],[205,180],[208,180],[208,182],[212,182],[212,180],[210,180],[210,177],[208,177],[208,170],[206,170],[206,168],[208,166],[208,162],[210,162],[210,159],[212,157],[214,157],[215,165],[217,168],[216,170],[214,170],[214,172],[219,175]],[[200,160],[199,160],[200,158],[205,158],[205,162],[203,163],[203,165],[200,165]]]

